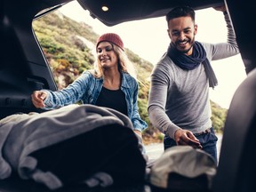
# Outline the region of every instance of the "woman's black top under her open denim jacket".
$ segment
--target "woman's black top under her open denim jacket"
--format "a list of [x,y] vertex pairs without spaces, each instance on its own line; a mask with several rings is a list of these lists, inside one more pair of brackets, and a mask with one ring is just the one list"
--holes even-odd
[[107,88],[102,87],[96,105],[100,107],[114,108],[125,116],[128,116],[125,94],[121,89],[108,90]]

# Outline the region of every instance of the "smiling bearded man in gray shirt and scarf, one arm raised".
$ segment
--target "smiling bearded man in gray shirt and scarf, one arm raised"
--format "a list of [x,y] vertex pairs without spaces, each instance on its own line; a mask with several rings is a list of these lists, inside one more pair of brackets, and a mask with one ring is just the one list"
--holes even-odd
[[217,164],[218,139],[212,129],[209,87],[218,82],[209,61],[228,58],[239,50],[226,7],[215,10],[224,13],[228,43],[197,42],[195,11],[188,6],[167,13],[171,44],[152,72],[148,115],[165,134],[164,149],[175,145],[202,148]]

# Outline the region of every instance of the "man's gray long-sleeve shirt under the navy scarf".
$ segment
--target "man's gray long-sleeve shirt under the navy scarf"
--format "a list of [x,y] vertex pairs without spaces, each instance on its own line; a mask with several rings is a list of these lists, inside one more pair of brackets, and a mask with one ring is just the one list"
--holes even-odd
[[[210,62],[239,53],[228,15],[225,15],[225,20],[228,27],[228,43],[201,43]],[[165,52],[151,75],[148,115],[150,122],[172,139],[178,129],[196,133],[210,128],[212,111],[209,81],[204,72],[204,65],[201,64],[193,70],[184,70],[175,65]]]

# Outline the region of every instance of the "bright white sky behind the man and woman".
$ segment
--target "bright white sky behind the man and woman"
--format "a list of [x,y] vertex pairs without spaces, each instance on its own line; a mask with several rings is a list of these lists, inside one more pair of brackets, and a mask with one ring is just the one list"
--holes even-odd
[[[114,32],[121,36],[124,47],[138,54],[153,65],[166,52],[170,44],[167,24],[164,17],[136,20],[105,26],[97,19],[92,19],[88,11],[76,2],[70,2],[60,8],[60,12],[78,22],[85,22],[99,35]],[[196,11],[198,25],[196,41],[221,43],[227,41],[227,28],[222,12],[213,8]],[[218,78],[218,86],[210,89],[210,99],[222,108],[229,108],[234,92],[246,77],[240,54],[228,59],[212,61],[212,68]]]

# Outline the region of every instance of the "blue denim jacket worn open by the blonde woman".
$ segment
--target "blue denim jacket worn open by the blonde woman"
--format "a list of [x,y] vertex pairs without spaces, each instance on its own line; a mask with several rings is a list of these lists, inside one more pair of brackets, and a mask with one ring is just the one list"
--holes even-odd
[[[143,131],[148,124],[140,118],[138,112],[138,83],[128,73],[122,72],[121,90],[125,94],[125,100],[128,109],[128,117],[131,119],[135,130]],[[44,100],[44,109],[61,108],[69,104],[74,104],[81,100],[84,104],[95,105],[104,79],[96,78],[91,72],[85,71],[67,88],[52,92],[50,90],[42,90],[48,93],[48,97]]]

